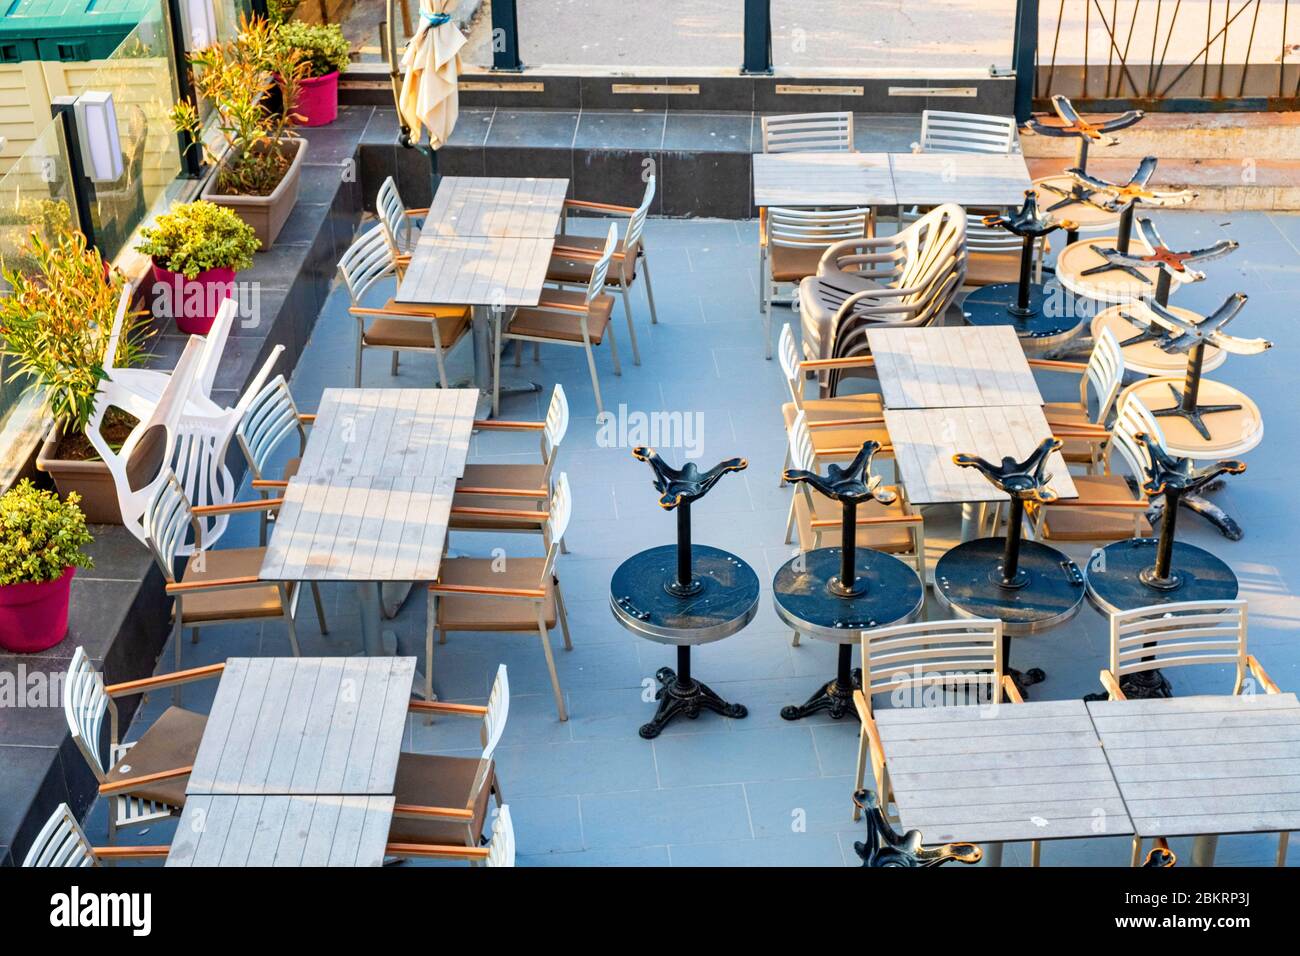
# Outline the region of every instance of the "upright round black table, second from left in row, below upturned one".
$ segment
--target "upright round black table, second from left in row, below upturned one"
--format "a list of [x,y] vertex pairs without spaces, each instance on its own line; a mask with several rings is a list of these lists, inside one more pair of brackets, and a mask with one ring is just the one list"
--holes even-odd
[[920,578],[892,554],[858,548],[852,596],[840,588],[840,548],[818,548],[790,558],[772,579],[776,614],[801,633],[838,643],[836,676],[800,705],[781,708],[781,717],[798,721],[829,713],[840,719],[853,713],[853,692],[862,687],[854,671],[853,648],[861,631],[913,620],[924,601]]

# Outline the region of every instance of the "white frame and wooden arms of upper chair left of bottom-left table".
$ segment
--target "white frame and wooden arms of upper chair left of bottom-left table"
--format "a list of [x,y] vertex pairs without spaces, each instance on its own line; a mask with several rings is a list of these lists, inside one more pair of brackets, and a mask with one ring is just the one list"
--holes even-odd
[[[120,827],[143,826],[181,812],[179,806],[170,806],[134,796],[131,791],[142,784],[139,778],[124,780],[117,786],[108,779],[108,771],[134,745],[134,741],[124,744],[118,740],[117,704],[114,700],[164,687],[179,687],[195,680],[205,680],[220,675],[224,669],[225,665],[217,663],[164,674],[156,678],[144,678],[143,680],[105,685],[103,675],[95,670],[86,649],[77,648],[73,652],[73,659],[68,666],[68,675],[64,682],[64,714],[68,718],[73,743],[86,758],[91,773],[95,775],[95,780],[99,783],[100,796],[108,800],[109,843],[116,842]],[[107,760],[100,750],[100,736],[105,715],[108,717]],[[183,767],[183,771],[188,773],[190,769]]]

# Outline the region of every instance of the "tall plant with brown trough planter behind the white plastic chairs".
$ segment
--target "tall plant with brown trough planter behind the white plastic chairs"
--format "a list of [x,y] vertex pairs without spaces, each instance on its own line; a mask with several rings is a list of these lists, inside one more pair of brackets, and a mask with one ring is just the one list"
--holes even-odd
[[[121,523],[113,476],[86,437],[86,423],[104,377],[104,352],[125,278],[108,271],[99,252],[70,229],[53,241],[30,235],[20,255],[25,269],[8,263],[0,268],[10,290],[0,297],[0,355],[8,359],[8,380],[39,393],[53,415],[36,468],[55,480],[64,497],[73,492],[81,497],[87,520]],[[142,315],[133,312],[122,323],[113,356],[117,368],[143,364]],[[136,424],[129,412],[109,408],[101,431],[120,446]]]

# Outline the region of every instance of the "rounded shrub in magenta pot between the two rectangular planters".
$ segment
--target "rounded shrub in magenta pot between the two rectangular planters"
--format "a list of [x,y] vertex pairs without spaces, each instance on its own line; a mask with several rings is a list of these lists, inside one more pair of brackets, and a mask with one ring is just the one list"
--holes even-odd
[[252,265],[261,246],[252,226],[231,209],[198,200],[178,203],[140,230],[135,250],[153,259],[155,315],[176,319],[181,332],[207,336],[235,273]]

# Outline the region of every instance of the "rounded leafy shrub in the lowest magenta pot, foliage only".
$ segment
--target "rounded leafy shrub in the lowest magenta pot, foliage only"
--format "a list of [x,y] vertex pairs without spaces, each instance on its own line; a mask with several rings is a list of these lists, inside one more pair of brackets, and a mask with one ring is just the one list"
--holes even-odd
[[57,581],[68,567],[94,567],[91,542],[73,492],[60,501],[23,479],[0,496],[0,584]]

